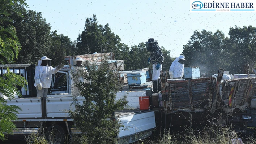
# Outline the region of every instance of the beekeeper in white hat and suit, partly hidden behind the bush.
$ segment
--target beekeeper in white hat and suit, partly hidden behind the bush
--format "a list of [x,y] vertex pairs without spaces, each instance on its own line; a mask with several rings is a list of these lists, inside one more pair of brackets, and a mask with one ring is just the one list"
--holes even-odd
[[69,73],[69,76],[71,77],[71,93],[73,96],[78,96],[79,91],[78,89],[74,86],[74,83],[76,81],[80,82],[85,82],[85,83],[90,83],[90,81],[86,80],[83,76],[83,72],[87,72],[86,68],[82,66],[82,62],[85,61],[81,57],[77,57],[76,60],[73,60],[76,62],[76,65],[71,67],[71,72]]

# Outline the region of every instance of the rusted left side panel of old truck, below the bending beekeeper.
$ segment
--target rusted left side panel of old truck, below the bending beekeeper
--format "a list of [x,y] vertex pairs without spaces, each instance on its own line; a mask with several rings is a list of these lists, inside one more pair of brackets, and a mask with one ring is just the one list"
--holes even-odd
[[204,108],[209,106],[212,97],[212,85],[215,78],[191,80],[168,80],[174,109]]

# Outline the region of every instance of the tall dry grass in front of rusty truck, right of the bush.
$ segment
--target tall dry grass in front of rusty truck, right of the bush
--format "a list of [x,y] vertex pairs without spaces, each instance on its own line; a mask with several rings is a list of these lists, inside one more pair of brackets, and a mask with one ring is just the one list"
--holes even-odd
[[[202,131],[193,131],[187,127],[182,134],[171,135],[168,133],[154,141],[144,140],[137,144],[240,144],[232,143],[232,139],[235,140],[237,138],[236,132],[231,127],[205,127]],[[256,139],[248,138],[243,143],[256,144]]]

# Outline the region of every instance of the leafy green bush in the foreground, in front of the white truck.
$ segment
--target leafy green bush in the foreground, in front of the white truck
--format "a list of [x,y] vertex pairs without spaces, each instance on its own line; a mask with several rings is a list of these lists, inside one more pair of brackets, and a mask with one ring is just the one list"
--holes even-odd
[[[85,97],[82,105],[75,102],[74,112],[70,112],[76,127],[82,131],[84,141],[88,144],[114,144],[117,142],[121,124],[118,121],[107,120],[113,118],[113,112],[121,110],[128,103],[123,99],[115,100],[116,92],[120,90],[118,82],[118,72],[111,71],[108,63],[104,61],[97,66],[86,61],[88,73],[80,71],[82,77],[90,80],[91,83],[77,82],[77,87],[81,96]],[[74,79],[78,76],[74,74]],[[74,96],[76,101],[76,96]]]

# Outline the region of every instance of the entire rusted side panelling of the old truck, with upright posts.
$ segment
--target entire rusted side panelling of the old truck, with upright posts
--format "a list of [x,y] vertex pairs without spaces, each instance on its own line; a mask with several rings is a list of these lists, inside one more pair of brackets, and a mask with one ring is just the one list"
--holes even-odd
[[228,113],[236,108],[243,111],[250,105],[256,92],[256,77],[222,80],[223,72],[223,69],[219,69],[217,79],[208,77],[167,81],[166,72],[162,73],[162,94],[166,97],[163,103],[168,108],[165,112],[205,108],[211,113],[217,109]]

